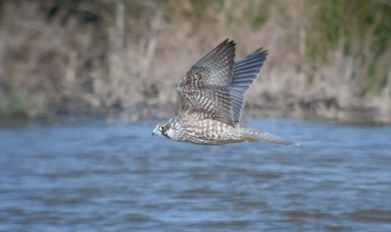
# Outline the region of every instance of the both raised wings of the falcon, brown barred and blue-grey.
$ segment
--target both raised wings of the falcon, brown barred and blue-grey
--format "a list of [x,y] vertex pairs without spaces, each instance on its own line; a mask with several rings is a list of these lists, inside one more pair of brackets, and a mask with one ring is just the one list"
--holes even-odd
[[268,55],[262,48],[234,61],[235,43],[228,39],[199,60],[179,82],[179,116],[200,113],[234,126],[240,121],[244,95]]

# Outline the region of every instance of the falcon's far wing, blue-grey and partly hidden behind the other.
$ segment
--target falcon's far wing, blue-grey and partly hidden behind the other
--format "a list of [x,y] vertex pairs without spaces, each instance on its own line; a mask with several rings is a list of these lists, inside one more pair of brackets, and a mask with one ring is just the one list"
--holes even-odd
[[268,55],[267,50],[261,51],[262,47],[247,57],[235,62],[230,83],[230,95],[232,99],[233,120],[240,121],[241,110],[244,105],[244,95],[258,77],[263,62]]

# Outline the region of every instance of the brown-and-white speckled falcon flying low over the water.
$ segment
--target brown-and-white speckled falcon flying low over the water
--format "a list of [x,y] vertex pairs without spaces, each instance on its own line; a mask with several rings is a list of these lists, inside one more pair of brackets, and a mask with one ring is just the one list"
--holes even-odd
[[205,145],[243,141],[296,145],[240,123],[244,95],[268,53],[261,47],[235,62],[235,45],[226,39],[187,71],[176,87],[179,115],[158,124],[152,136]]

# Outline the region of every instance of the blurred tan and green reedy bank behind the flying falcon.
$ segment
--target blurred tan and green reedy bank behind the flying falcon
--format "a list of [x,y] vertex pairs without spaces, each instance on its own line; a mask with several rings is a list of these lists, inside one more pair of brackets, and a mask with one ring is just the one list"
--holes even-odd
[[230,38],[237,60],[269,50],[243,118],[390,123],[390,19],[390,0],[2,0],[0,116],[175,116],[176,84]]

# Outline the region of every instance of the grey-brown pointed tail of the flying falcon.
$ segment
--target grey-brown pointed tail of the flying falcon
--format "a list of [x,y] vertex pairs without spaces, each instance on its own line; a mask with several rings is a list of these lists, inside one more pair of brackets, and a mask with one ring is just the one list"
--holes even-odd
[[241,125],[244,129],[242,132],[242,136],[246,142],[268,142],[273,144],[282,144],[282,145],[300,145],[298,143],[294,143],[285,139],[281,139],[277,136],[270,135],[268,133],[259,131],[249,126]]

